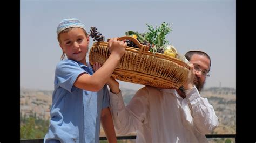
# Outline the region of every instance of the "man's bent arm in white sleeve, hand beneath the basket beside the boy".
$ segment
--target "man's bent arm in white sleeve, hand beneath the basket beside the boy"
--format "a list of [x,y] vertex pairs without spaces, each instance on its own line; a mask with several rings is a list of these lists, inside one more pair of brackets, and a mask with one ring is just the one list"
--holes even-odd
[[119,83],[114,78],[110,78],[107,84],[110,87],[110,110],[117,134],[126,135],[135,132],[143,124],[146,124],[149,114],[146,88],[140,89],[125,106]]

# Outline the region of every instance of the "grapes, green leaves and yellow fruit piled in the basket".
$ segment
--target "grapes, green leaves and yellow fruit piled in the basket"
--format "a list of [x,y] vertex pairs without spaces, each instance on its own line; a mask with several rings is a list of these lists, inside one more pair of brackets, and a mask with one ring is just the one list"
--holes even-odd
[[[137,39],[142,45],[147,45],[149,47],[149,51],[152,53],[169,55],[188,63],[185,56],[179,54],[177,49],[165,39],[166,35],[172,31],[169,23],[163,22],[157,27],[153,27],[146,23],[146,26],[147,31],[145,33],[127,31],[125,32],[125,35]],[[100,42],[105,40],[105,37],[97,31],[96,27],[91,27],[89,34],[93,38],[93,41]],[[139,48],[138,45],[130,40],[125,40],[125,42],[127,42],[127,46],[129,47]]]

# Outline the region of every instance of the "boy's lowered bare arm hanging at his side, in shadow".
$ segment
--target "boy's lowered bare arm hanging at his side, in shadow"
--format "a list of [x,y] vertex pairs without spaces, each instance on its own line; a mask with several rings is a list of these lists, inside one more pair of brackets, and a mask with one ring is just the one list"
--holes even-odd
[[103,130],[106,134],[107,141],[117,142],[116,132],[114,131],[114,124],[109,107],[102,109],[100,121],[102,123]]

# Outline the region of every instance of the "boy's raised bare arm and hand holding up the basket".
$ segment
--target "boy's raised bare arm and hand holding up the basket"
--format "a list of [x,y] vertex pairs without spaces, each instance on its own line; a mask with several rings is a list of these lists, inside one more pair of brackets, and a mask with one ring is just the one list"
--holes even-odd
[[91,76],[86,73],[80,74],[74,85],[89,91],[99,91],[102,89],[124,55],[126,46],[127,43],[124,41],[118,41],[117,38],[110,39],[109,50],[111,54],[104,65]]

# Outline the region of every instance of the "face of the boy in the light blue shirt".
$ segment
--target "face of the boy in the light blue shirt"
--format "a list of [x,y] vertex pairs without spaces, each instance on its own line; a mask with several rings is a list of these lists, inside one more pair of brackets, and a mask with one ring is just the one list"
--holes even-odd
[[59,45],[69,59],[86,64],[89,36],[86,37],[81,28],[72,28],[69,32],[61,33]]

